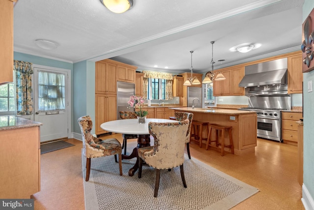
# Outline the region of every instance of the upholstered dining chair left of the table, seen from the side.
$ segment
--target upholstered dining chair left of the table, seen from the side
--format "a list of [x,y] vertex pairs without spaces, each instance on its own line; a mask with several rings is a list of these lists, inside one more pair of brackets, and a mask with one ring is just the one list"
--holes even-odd
[[117,161],[117,154],[119,155],[119,171],[122,176],[122,148],[117,139],[102,140],[92,135],[93,122],[90,116],[83,116],[78,118],[78,124],[82,132],[83,140],[83,154],[86,157],[86,178],[89,180],[91,158],[114,155],[115,162]]

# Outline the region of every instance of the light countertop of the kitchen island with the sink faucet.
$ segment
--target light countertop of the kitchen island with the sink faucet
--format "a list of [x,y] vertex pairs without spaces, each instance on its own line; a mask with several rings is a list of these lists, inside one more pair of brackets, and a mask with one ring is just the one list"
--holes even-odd
[[245,115],[255,113],[254,111],[244,111],[244,110],[234,110],[234,109],[203,109],[203,108],[195,108],[192,107],[178,107],[178,108],[170,108],[174,110],[186,111],[186,112],[200,112],[200,113],[210,113],[210,114],[221,114],[221,115]]

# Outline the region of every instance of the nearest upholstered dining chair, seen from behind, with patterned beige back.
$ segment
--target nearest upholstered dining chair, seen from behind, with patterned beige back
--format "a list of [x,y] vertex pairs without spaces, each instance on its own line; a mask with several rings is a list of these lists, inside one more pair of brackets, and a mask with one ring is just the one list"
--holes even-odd
[[154,146],[138,149],[138,178],[142,177],[142,164],[156,168],[154,197],[158,195],[160,170],[180,166],[183,186],[187,187],[184,171],[184,147],[189,120],[180,122],[149,122],[149,133],[154,137]]

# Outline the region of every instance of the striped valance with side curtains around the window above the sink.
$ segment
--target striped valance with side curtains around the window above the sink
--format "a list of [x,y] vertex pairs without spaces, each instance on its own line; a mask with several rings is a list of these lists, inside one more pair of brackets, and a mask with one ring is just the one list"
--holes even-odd
[[165,100],[172,100],[172,81],[173,76],[171,73],[157,72],[157,71],[142,71],[143,76],[143,88],[144,88],[144,97],[146,99],[147,90],[148,90],[148,79],[164,79],[166,80],[165,87]]

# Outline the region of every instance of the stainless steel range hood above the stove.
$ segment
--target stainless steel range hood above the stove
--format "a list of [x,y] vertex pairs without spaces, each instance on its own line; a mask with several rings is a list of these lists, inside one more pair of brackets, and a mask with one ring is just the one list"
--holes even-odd
[[245,75],[239,87],[287,85],[287,58],[245,66]]

